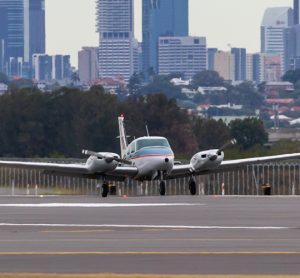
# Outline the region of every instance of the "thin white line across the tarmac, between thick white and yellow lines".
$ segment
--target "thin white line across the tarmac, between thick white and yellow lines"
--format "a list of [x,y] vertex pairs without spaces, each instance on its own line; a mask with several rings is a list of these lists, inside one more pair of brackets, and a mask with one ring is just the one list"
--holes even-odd
[[291,230],[299,227],[279,226],[186,226],[186,225],[119,225],[119,224],[51,224],[51,223],[0,223],[0,227],[53,227],[53,228],[137,228],[186,230]]

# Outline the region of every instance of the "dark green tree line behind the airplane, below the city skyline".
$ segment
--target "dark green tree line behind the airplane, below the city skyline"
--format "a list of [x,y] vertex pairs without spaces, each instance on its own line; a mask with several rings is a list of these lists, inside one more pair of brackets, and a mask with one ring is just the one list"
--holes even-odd
[[1,157],[81,157],[81,150],[119,152],[118,122],[125,115],[132,140],[165,136],[179,157],[218,148],[236,137],[239,147],[264,144],[267,134],[257,119],[222,121],[189,116],[176,100],[164,94],[119,100],[101,86],[87,92],[60,88],[42,93],[36,88],[13,90],[0,96]]

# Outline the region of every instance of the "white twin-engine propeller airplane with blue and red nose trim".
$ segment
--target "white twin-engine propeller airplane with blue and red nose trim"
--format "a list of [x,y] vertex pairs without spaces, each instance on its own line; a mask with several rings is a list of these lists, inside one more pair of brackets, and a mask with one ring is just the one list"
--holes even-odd
[[300,158],[300,153],[293,153],[224,161],[225,148],[236,143],[235,140],[232,140],[220,149],[195,154],[189,164],[179,165],[175,162],[174,153],[168,140],[164,137],[141,137],[133,140],[128,145],[124,117],[120,116],[118,120],[121,156],[115,153],[83,150],[82,153],[89,156],[85,164],[0,160],[0,166],[40,169],[45,174],[99,179],[102,181],[102,197],[108,195],[109,181],[124,181],[125,179],[138,181],[159,180],[159,192],[163,196],[166,193],[165,181],[168,179],[190,177],[189,190],[192,195],[195,195],[196,183],[194,177],[196,175],[222,172],[254,163]]

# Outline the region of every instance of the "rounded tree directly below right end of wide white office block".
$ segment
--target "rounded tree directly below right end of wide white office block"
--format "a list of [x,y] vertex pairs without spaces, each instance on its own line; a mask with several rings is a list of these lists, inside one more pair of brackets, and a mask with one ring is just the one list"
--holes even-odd
[[204,70],[197,73],[193,79],[191,86],[197,89],[200,86],[203,87],[217,87],[224,86],[224,79],[216,71]]

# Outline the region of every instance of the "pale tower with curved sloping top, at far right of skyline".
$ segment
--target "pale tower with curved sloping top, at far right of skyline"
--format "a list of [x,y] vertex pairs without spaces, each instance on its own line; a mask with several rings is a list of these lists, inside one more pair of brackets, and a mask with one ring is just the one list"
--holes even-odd
[[289,7],[268,8],[261,24],[261,53],[279,54],[284,72],[284,30],[293,25],[293,10]]

